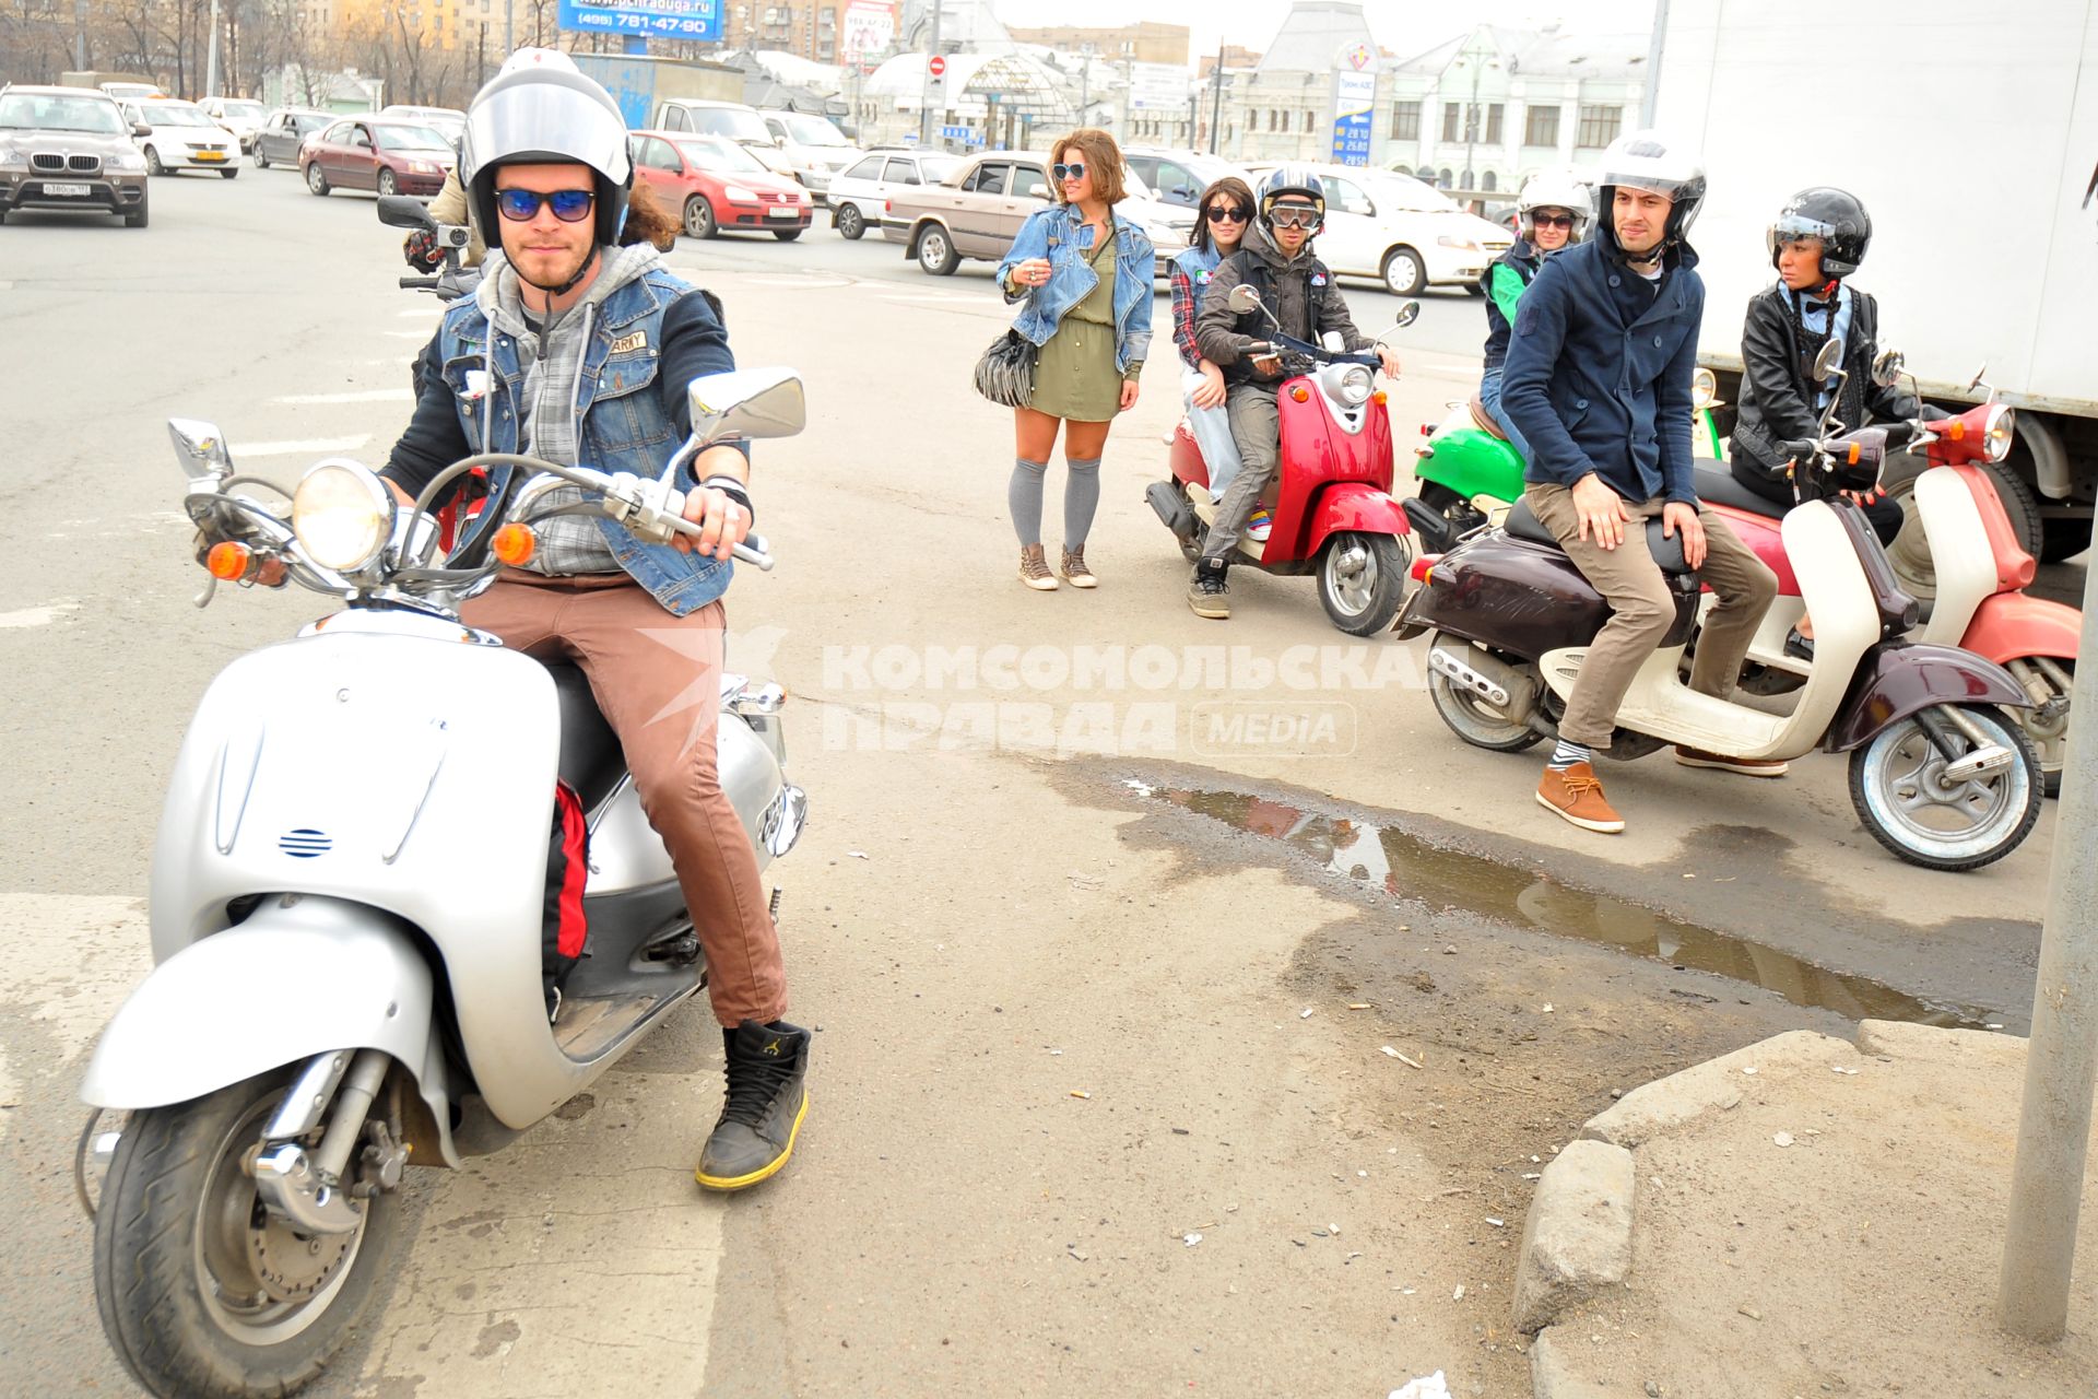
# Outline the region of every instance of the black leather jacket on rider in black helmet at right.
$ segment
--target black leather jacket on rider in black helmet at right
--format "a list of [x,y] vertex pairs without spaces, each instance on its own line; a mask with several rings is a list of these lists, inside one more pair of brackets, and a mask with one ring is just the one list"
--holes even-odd
[[[1863,428],[1869,419],[1915,417],[1915,396],[1871,382],[1871,361],[1880,352],[1880,306],[1869,294],[1850,289],[1850,342],[1842,367],[1850,375],[1836,415],[1844,430]],[[1815,434],[1821,415],[1813,409],[1806,384],[1802,346],[1785,306],[1781,283],[1771,283],[1750,298],[1741,323],[1741,403],[1733,424],[1733,470],[1737,476],[1783,476],[1787,457],[1783,443]],[[1863,409],[1863,411],[1859,411]],[[1859,422],[1850,422],[1850,417]]]

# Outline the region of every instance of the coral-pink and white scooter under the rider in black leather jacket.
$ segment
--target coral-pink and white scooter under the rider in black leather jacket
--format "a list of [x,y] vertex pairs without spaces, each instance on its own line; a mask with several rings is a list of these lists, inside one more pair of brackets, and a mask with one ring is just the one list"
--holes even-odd
[[[1874,378],[1890,384],[1901,361],[1888,352],[1874,365]],[[1970,388],[1981,386],[1976,375]],[[1922,451],[1930,468],[1915,478],[1915,514],[1930,541],[1939,591],[1930,619],[1915,640],[1960,646],[2001,665],[2025,688],[2031,709],[2012,709],[2025,736],[2039,753],[2046,793],[2060,791],[2062,757],[2069,745],[2069,686],[2077,663],[2083,615],[2077,608],[2031,598],[2033,556],[2018,547],[2010,516],[1981,461],[2001,461],[2010,451],[2014,409],[1989,403],[1953,417],[1926,415],[1897,426],[1909,451]],[[1777,602],[1762,619],[1750,646],[1750,690],[1783,694],[1804,684],[1808,663],[1785,654],[1785,636],[1806,612],[1800,583],[1779,537],[1783,505],[1743,491],[1718,466],[1699,464],[1697,497],[1727,518],[1741,543],[1777,573]]]

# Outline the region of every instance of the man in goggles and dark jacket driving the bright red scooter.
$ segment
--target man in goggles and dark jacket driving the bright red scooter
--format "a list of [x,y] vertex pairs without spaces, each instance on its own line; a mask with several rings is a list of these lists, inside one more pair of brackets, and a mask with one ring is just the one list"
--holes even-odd
[[1202,359],[1223,369],[1229,384],[1225,411],[1232,417],[1232,440],[1238,443],[1240,470],[1217,503],[1217,518],[1202,543],[1202,558],[1187,585],[1187,606],[1196,617],[1225,619],[1232,598],[1225,571],[1246,520],[1261,503],[1261,493],[1273,485],[1282,466],[1282,361],[1257,359],[1248,348],[1269,340],[1269,323],[1261,313],[1232,310],[1232,289],[1253,285],[1261,304],[1276,317],[1286,336],[1320,344],[1334,331],[1347,350],[1376,350],[1385,373],[1399,378],[1399,357],[1376,344],[1347,315],[1347,302],[1332,273],[1311,252],[1311,237],[1326,222],[1326,187],[1299,166],[1271,170],[1259,189],[1259,212],[1236,254],[1211,275],[1202,315],[1196,319],[1196,344]]

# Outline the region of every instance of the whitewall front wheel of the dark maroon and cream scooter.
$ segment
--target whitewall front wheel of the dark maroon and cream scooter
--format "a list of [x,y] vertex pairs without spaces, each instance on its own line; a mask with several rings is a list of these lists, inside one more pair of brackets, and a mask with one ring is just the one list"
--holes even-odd
[[1957,705],[1989,747],[2010,751],[2010,763],[1976,776],[1955,776],[1953,761],[1924,728],[1939,732],[1962,757],[1976,745],[1943,713],[1926,709],[1886,726],[1850,753],[1850,805],[1871,837],[1909,864],[1930,870],[1974,870],[2001,860],[2039,820],[2039,755],[2016,724],[1989,705]]

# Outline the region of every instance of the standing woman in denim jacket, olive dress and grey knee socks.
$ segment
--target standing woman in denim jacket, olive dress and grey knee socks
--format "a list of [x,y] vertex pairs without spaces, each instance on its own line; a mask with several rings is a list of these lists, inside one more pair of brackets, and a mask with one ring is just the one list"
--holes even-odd
[[1043,476],[1064,428],[1064,560],[1072,587],[1097,587],[1085,535],[1099,508],[1099,453],[1108,424],[1137,403],[1137,375],[1152,344],[1152,239],[1114,212],[1122,199],[1122,149],[1104,130],[1080,128],[1055,145],[1055,203],[1020,224],[999,264],[1007,302],[1026,302],[1013,329],[1039,348],[1034,399],[1013,409],[1013,480],[1007,505],[1020,535],[1020,581],[1055,591],[1043,556]]

